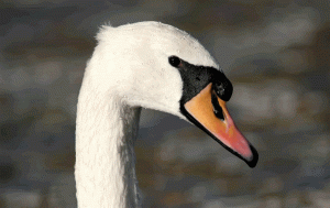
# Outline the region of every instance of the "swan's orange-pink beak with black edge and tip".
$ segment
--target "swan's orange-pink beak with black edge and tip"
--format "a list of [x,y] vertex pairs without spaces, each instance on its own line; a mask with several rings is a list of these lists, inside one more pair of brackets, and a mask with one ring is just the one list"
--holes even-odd
[[226,102],[212,90],[212,84],[184,105],[187,118],[205,130],[227,150],[244,160],[250,167],[257,163],[257,152],[242,135],[230,117]]

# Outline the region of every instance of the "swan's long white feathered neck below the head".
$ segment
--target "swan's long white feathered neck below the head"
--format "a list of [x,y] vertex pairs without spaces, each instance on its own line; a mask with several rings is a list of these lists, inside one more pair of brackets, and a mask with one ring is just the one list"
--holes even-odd
[[84,80],[77,109],[76,166],[79,208],[140,207],[134,141],[141,108],[94,90]]

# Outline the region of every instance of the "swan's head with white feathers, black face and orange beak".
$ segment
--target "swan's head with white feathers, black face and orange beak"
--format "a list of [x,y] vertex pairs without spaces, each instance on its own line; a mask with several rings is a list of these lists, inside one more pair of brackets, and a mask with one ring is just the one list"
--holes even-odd
[[232,84],[197,40],[158,22],[103,26],[97,39],[86,73],[98,90],[188,120],[249,166],[256,165],[257,152],[226,108]]

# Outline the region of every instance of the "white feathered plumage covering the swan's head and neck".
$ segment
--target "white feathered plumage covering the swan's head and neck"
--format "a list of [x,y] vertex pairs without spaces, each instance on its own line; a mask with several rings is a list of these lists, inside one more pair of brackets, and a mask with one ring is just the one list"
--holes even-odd
[[168,57],[218,65],[186,32],[160,22],[103,26],[78,98],[76,184],[79,208],[140,207],[134,141],[140,107],[179,112],[183,80]]

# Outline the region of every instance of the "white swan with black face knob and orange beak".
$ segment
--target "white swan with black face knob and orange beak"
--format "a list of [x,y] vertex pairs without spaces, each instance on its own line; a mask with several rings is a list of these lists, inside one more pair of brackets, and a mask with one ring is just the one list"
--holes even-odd
[[78,96],[75,178],[79,208],[141,207],[134,141],[141,108],[196,124],[250,167],[257,152],[226,102],[232,85],[188,33],[160,22],[103,25]]

